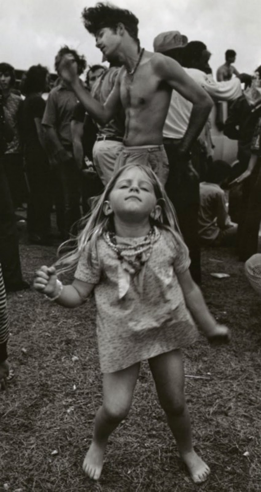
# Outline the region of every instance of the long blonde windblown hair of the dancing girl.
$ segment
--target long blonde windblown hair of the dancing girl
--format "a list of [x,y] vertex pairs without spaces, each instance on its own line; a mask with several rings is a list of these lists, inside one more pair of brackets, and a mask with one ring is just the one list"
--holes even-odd
[[[121,174],[127,169],[133,167],[139,168],[147,175],[153,185],[157,203],[161,206],[162,209],[161,215],[157,220],[150,218],[151,225],[156,225],[161,229],[167,229],[171,232],[178,231],[178,233],[181,235],[174,207],[155,173],[148,166],[144,166],[142,164],[129,164],[127,166],[121,167],[117,171],[117,173],[106,185],[103,193],[100,195],[100,197],[97,198],[93,210],[79,221],[79,227],[81,227],[81,225],[83,224],[85,225],[82,227],[82,230],[78,235],[77,246],[73,251],[61,256],[55,263],[55,266],[58,267],[58,271],[60,273],[74,270],[76,268],[78,260],[85,247],[87,246],[87,243],[89,243],[90,246],[88,248],[87,262],[91,265],[91,251],[93,251],[93,248],[96,249],[98,256],[98,239],[103,235],[104,232],[107,232],[108,230],[114,230],[113,215],[105,215],[104,203],[108,201],[110,193],[113,190],[116,181],[121,176]],[[68,244],[70,244],[70,242],[71,241],[69,240],[63,243],[58,248],[58,253],[62,253],[63,246],[67,246]]]

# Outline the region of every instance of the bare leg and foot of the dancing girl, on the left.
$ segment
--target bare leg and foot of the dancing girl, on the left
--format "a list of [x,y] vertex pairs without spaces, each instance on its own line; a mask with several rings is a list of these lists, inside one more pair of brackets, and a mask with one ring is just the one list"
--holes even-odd
[[128,415],[139,370],[140,363],[103,374],[103,403],[95,416],[93,438],[83,464],[85,473],[94,480],[100,478],[109,435]]

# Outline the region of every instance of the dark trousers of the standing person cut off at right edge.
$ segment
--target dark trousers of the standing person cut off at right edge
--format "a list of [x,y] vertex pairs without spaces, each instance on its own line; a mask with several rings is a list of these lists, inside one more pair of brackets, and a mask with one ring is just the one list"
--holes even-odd
[[261,221],[261,159],[252,175],[243,183],[237,230],[239,260],[246,261],[258,252]]

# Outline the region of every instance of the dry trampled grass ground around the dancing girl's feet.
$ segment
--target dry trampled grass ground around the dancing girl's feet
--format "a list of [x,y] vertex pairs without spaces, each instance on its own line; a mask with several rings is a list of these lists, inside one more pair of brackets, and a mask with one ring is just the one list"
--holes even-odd
[[[50,265],[55,251],[22,241],[25,278]],[[224,271],[229,278],[210,276]],[[146,363],[129,417],[110,439],[101,479],[84,476],[102,399],[94,301],[66,310],[24,291],[8,295],[15,377],[0,394],[0,491],[261,490],[261,300],[228,249],[203,251],[202,288],[212,313],[232,329],[230,345],[210,347],[201,337],[184,353],[186,374],[208,378],[186,378],[195,446],[212,471],[207,482],[195,486],[178,458]]]

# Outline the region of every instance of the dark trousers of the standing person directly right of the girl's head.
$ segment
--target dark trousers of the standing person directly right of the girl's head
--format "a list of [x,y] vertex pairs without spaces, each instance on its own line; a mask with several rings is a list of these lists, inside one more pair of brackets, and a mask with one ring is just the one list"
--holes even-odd
[[176,152],[179,140],[165,142],[164,147],[169,160],[169,177],[166,192],[174,205],[178,224],[184,241],[189,248],[191,259],[190,273],[198,284],[201,283],[201,251],[198,233],[198,213],[200,203],[199,180],[191,175],[186,162],[180,163]]

